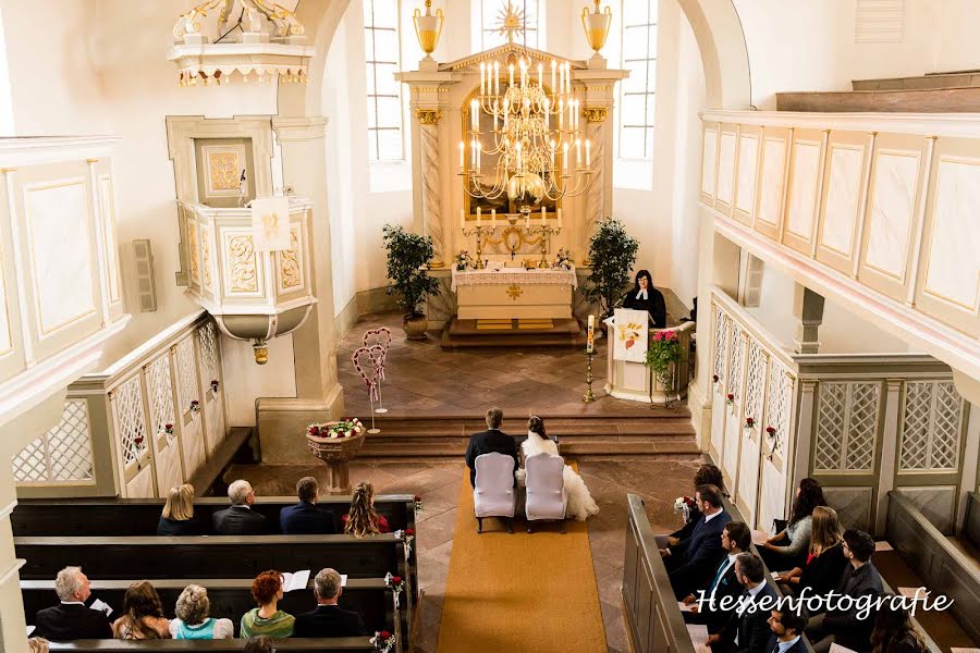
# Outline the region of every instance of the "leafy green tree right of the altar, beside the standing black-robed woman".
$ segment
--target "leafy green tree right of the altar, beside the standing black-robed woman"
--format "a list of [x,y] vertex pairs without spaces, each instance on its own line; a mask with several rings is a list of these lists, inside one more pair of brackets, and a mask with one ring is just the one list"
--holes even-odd
[[581,294],[590,304],[599,306],[602,319],[612,315],[613,307],[633,281],[629,271],[636,262],[639,243],[626,233],[623,223],[615,218],[600,220],[596,234],[589,241],[589,260],[592,263],[588,285]]

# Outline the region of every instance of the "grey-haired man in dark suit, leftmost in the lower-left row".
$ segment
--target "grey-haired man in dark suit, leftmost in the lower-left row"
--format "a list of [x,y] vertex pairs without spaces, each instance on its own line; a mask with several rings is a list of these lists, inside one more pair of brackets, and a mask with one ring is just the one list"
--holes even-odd
[[65,567],[59,571],[54,593],[61,603],[38,611],[34,618],[35,634],[59,642],[112,637],[105,613],[85,607],[91,595],[91,583],[82,574],[82,567]]

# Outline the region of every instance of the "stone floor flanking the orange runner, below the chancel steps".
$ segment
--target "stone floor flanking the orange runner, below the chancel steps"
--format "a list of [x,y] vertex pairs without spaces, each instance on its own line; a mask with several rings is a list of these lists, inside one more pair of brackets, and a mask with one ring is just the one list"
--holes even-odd
[[[605,638],[610,653],[629,650],[623,625],[620,588],[626,545],[626,494],[638,494],[654,530],[673,530],[679,516],[673,513],[676,496],[690,491],[699,461],[591,460],[579,468],[600,513],[589,520],[592,566],[599,588]],[[249,480],[266,495],[289,495],[296,479],[313,475],[326,480],[322,465],[235,465],[225,478]],[[370,481],[379,493],[419,494],[424,510],[417,525],[419,586],[425,600],[419,616],[415,653],[434,653],[439,641],[442,601],[453,547],[456,504],[463,464],[456,460],[365,461],[351,465],[351,482]]]

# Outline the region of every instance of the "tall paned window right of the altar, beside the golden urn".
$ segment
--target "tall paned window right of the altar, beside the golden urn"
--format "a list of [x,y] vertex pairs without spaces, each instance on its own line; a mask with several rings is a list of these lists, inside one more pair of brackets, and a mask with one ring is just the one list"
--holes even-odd
[[653,100],[657,88],[657,0],[622,0],[620,64],[620,158],[653,158]]

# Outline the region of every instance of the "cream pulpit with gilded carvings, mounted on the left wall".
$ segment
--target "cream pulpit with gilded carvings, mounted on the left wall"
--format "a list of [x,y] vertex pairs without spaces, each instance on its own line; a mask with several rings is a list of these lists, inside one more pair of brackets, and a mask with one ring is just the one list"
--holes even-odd
[[267,360],[266,342],[298,329],[317,301],[311,207],[309,199],[290,196],[290,246],[265,250],[250,209],[177,200],[187,292],[225,335],[253,342],[258,364]]

